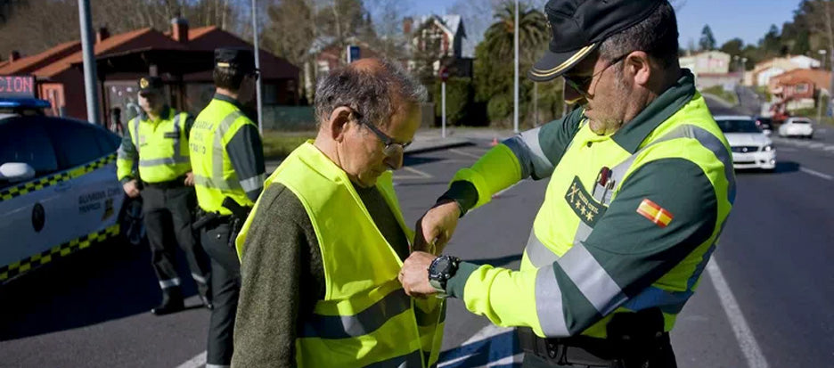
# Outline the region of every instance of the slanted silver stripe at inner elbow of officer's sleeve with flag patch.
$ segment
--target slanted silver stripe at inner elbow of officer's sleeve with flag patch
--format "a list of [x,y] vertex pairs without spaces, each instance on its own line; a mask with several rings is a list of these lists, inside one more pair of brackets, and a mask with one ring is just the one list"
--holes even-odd
[[609,315],[626,300],[626,294],[584,244],[574,244],[557,263],[601,315]]

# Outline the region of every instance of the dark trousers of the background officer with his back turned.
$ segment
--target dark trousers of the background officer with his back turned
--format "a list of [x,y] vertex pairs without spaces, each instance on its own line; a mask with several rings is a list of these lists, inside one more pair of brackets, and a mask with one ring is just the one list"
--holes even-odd
[[241,291],[241,263],[229,246],[229,225],[208,225],[200,233],[203,248],[211,258],[211,292],[214,310],[208,323],[207,363],[232,363],[234,317]]

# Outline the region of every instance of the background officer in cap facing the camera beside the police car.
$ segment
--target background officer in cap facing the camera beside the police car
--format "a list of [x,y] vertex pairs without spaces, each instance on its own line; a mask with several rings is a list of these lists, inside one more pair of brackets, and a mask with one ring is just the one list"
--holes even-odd
[[193,119],[168,106],[158,77],[139,79],[139,105],[143,113],[127,123],[128,134],[122,138],[116,168],[128,197],[138,197],[143,188],[144,223],[153,270],[162,288],[162,302],[151,312],[166,315],[184,307],[182,281],[176,274],[175,241],[185,252],[203,305],[211,309],[208,258],[192,233],[196,196],[188,134]]

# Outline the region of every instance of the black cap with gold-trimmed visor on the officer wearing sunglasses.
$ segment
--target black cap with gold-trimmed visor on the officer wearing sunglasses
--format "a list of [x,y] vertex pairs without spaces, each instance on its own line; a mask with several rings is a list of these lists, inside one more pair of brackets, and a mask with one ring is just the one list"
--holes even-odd
[[550,0],[544,5],[553,38],[528,77],[557,78],[596,50],[606,38],[649,18],[666,0]]

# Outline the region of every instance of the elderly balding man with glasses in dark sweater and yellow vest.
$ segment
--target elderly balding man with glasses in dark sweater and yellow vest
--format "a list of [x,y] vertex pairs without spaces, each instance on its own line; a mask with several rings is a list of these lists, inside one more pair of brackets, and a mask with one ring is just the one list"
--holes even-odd
[[319,83],[315,141],[266,179],[237,238],[243,286],[233,365],[429,367],[445,305],[397,282],[413,232],[391,180],[425,89],[367,59]]

